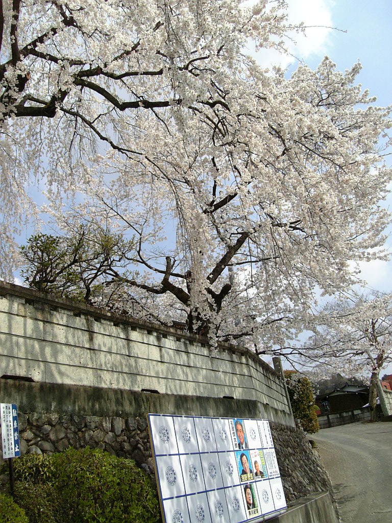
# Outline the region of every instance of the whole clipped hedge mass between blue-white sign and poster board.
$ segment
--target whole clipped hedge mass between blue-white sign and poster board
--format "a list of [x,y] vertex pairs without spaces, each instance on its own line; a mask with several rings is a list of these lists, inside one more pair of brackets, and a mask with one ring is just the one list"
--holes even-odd
[[157,493],[132,460],[98,449],[28,454],[15,464],[15,499],[30,523],[155,523]]

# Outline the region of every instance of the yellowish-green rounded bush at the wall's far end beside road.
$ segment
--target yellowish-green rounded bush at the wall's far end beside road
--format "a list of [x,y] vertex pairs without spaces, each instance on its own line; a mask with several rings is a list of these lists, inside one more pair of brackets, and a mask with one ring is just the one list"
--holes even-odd
[[318,432],[319,425],[314,410],[314,392],[310,380],[299,372],[285,370],[287,390],[289,391],[291,407],[295,418],[301,421],[305,432],[314,434]]

